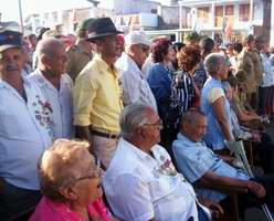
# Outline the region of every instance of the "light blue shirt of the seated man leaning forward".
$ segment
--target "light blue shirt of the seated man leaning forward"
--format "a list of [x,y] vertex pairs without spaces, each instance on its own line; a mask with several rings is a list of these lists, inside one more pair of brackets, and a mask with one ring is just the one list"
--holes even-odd
[[[202,143],[189,140],[182,134],[178,134],[172,144],[172,151],[180,172],[190,181],[199,180],[207,171],[215,175],[241,180],[249,180],[249,176],[235,169],[219,158],[210,148]],[[199,190],[199,193],[215,202],[226,196],[212,190]]]

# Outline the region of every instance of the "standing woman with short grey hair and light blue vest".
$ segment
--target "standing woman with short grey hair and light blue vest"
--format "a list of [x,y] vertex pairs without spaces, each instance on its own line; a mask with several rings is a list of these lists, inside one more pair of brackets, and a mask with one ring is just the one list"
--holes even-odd
[[205,57],[204,66],[210,77],[202,87],[201,110],[208,117],[204,141],[213,150],[225,148],[224,139],[233,140],[230,105],[224,95],[222,81],[228,78],[225,56],[212,53]]

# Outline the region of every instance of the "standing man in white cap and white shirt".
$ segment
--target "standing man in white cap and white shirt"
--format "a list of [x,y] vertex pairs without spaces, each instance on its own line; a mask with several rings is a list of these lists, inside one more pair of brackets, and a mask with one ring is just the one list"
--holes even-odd
[[151,105],[157,110],[155,96],[144,78],[141,66],[149,52],[150,41],[144,32],[134,31],[126,35],[126,53],[116,62],[122,74],[123,103]]

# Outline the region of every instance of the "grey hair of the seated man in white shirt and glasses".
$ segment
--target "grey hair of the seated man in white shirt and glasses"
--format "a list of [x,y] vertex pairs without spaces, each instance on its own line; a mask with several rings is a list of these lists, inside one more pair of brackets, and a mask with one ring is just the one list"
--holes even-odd
[[135,130],[148,123],[147,110],[152,109],[146,104],[135,103],[124,108],[120,114],[120,134],[125,138],[133,138]]

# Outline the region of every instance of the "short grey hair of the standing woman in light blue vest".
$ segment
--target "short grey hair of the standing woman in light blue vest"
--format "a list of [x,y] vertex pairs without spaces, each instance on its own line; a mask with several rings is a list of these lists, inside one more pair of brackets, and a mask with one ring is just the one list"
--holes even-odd
[[220,66],[221,61],[225,62],[225,56],[221,53],[211,53],[205,56],[204,67],[209,75],[215,75]]

